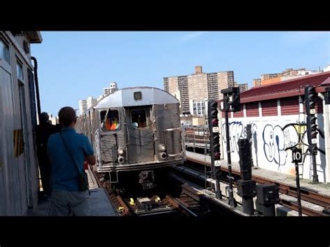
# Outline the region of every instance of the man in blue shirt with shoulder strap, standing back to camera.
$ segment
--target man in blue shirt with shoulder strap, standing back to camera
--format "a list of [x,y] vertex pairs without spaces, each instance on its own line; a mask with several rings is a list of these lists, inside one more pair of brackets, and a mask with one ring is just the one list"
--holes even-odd
[[63,107],[58,112],[58,120],[63,128],[60,133],[50,136],[47,143],[47,153],[52,164],[51,215],[87,216],[89,191],[80,191],[79,173],[84,170],[85,157],[89,164],[95,165],[94,150],[87,136],[75,131],[77,116],[72,107]]

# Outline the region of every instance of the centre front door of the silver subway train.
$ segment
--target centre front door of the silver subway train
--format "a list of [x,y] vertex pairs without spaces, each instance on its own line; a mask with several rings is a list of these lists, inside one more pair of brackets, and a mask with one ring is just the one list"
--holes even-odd
[[150,111],[151,106],[127,109],[129,164],[155,161],[155,144]]

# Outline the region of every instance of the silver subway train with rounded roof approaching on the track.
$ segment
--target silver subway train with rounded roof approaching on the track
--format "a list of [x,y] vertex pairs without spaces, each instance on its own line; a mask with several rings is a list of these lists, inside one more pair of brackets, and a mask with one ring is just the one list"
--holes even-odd
[[88,109],[79,117],[77,131],[93,144],[97,172],[109,173],[115,183],[118,173],[140,170],[141,178],[183,164],[179,104],[159,88],[134,87],[117,90]]

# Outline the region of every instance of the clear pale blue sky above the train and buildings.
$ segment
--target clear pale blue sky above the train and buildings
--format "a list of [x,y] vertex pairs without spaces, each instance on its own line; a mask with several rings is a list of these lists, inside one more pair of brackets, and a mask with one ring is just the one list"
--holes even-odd
[[233,70],[235,81],[285,68],[316,70],[330,64],[330,32],[49,32],[32,45],[38,59],[42,111],[98,97],[116,81],[119,88],[163,88],[163,77]]

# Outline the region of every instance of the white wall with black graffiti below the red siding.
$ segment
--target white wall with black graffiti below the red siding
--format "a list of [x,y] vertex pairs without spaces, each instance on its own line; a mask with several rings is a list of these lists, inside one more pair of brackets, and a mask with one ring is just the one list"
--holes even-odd
[[[251,125],[251,150],[253,166],[265,168],[295,175],[294,164],[292,164],[292,152],[290,147],[302,148],[304,161],[299,166],[300,173],[304,179],[312,179],[313,167],[311,156],[308,155],[308,140],[306,124],[299,124],[299,115],[282,115],[271,117],[254,118],[229,118],[230,150],[232,161],[239,161],[239,138],[246,138],[246,126]],[[319,129],[324,129],[321,114],[317,114]],[[226,150],[226,126],[224,119],[221,120],[221,142],[223,150]],[[329,182],[328,171],[324,156],[324,137],[317,135],[317,174],[320,182]],[[223,152],[223,159],[227,159],[226,152]],[[327,168],[328,169],[328,168]]]

